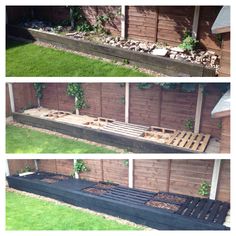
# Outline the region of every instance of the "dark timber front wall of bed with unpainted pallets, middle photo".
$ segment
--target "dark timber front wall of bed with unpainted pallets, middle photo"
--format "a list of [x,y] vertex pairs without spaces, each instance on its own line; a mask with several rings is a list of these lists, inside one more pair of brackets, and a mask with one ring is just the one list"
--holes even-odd
[[102,144],[107,144],[136,153],[194,153],[194,151],[170,146],[164,143],[157,143],[152,140],[144,140],[127,135],[117,134],[106,130],[93,129],[82,125],[74,125],[61,121],[54,121],[26,115],[23,113],[13,113],[16,122],[33,127],[48,129],[75,138],[86,139]]

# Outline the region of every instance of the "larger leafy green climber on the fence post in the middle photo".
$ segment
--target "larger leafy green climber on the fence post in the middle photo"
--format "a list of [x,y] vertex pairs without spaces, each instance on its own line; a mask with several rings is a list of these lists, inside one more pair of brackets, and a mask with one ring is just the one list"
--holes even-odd
[[80,110],[87,107],[84,91],[80,83],[69,83],[67,86],[67,94],[76,98],[75,108]]

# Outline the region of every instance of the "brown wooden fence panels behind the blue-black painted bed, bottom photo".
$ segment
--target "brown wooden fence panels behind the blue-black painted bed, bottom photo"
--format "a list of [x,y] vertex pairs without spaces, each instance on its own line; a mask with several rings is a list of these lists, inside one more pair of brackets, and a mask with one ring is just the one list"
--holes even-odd
[[[112,181],[128,186],[129,167],[125,160],[84,160],[88,172],[80,174],[91,181]],[[14,174],[30,165],[29,160],[8,160]],[[134,160],[133,186],[149,191],[170,191],[200,196],[198,189],[203,181],[211,183],[214,160]],[[38,160],[40,171],[65,175],[73,173],[73,160]],[[216,198],[230,201],[230,161],[222,160]]]

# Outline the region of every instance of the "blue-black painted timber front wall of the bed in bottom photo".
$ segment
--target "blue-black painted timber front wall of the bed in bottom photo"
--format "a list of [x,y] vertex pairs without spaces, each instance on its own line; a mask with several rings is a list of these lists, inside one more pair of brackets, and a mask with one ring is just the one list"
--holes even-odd
[[[154,209],[145,205],[121,202],[113,199],[95,196],[81,190],[53,186],[36,180],[24,179],[18,176],[8,176],[9,187],[50,197],[72,205],[88,208],[116,217],[131,220],[160,230],[228,230],[220,225],[203,222],[183,215],[173,214],[164,209]],[[76,180],[75,180],[76,181]],[[84,180],[82,180],[84,181]],[[91,181],[86,181],[89,183]],[[91,182],[93,185],[94,182]]]

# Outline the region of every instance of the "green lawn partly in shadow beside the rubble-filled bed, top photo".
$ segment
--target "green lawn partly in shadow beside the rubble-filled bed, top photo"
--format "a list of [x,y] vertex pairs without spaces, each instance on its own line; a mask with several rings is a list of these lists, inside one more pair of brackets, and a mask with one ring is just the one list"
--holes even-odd
[[16,41],[7,42],[7,76],[148,76],[135,69],[73,53]]

